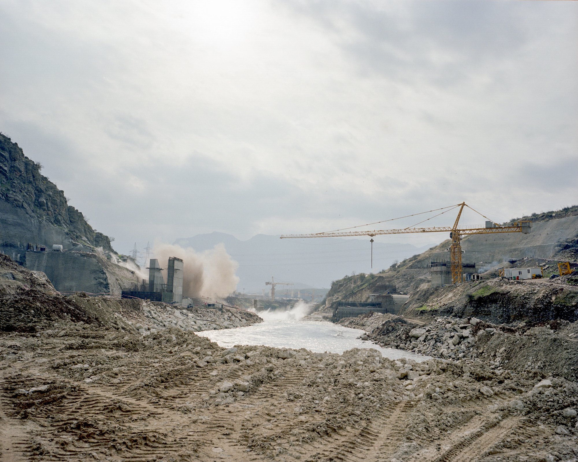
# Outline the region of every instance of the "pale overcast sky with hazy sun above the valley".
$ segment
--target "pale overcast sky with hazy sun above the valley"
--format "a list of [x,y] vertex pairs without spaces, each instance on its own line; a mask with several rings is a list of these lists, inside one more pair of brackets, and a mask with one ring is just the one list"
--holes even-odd
[[125,253],[578,203],[577,2],[0,0],[0,68],[0,131]]

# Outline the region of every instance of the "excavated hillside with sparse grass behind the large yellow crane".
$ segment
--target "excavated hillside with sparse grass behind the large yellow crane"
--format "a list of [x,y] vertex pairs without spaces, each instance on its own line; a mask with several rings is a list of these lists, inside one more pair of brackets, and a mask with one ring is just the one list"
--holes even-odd
[[[486,278],[497,277],[499,267],[542,266],[545,276],[557,274],[559,261],[578,267],[578,206],[524,217],[531,221],[529,234],[480,234],[462,240],[464,263],[476,263]],[[357,274],[334,281],[321,305],[335,300],[369,301],[370,294],[411,295],[428,290],[429,264],[448,260],[450,240],[443,241],[377,274]],[[435,291],[433,291],[435,292]]]

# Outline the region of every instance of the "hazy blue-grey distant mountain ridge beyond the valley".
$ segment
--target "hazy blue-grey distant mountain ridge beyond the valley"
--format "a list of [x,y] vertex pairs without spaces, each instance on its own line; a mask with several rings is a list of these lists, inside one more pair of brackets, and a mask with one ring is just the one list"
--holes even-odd
[[[292,288],[328,288],[331,281],[346,274],[370,272],[370,245],[361,239],[279,239],[279,236],[257,234],[239,240],[226,233],[213,232],[177,239],[181,247],[197,252],[224,244],[228,254],[239,262],[238,290],[258,292],[266,289],[265,281],[292,282]],[[389,267],[395,260],[420,254],[430,245],[373,243],[373,271]],[[291,287],[291,286],[290,286]],[[287,286],[279,286],[277,290]]]

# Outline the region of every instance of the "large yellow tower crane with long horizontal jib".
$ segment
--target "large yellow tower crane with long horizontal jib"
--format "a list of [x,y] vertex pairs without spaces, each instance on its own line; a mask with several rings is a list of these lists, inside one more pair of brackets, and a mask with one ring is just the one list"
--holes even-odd
[[[454,208],[460,207],[458,211],[458,216],[455,218],[455,222],[453,226],[433,226],[430,228],[420,228],[416,227],[420,225],[424,221],[428,221],[429,219],[438,217],[446,213],[447,211],[454,210]],[[458,223],[460,222],[460,217],[462,215],[462,210],[464,207],[468,207],[471,210],[475,211],[477,214],[480,214],[482,217],[486,218],[486,228],[458,228]],[[420,223],[416,223],[409,228],[403,229],[382,229],[382,230],[373,230],[373,231],[347,231],[343,232],[343,230],[336,230],[327,233],[315,233],[315,234],[283,234],[281,239],[295,239],[301,237],[345,237],[345,236],[369,236],[374,237],[378,236],[379,234],[409,234],[409,233],[442,233],[442,232],[450,232],[450,239],[451,239],[451,246],[450,246],[450,271],[451,271],[451,283],[458,284],[461,282],[462,278],[462,246],[461,246],[461,239],[462,236],[469,236],[470,234],[495,234],[495,233],[524,233],[527,234],[530,232],[529,222],[527,221],[519,221],[513,223],[510,226],[499,226],[497,223],[491,221],[478,211],[474,210],[472,207],[468,206],[465,202],[461,204],[455,204],[454,206],[449,207],[442,207],[436,208],[435,210],[429,210],[427,212],[406,215],[405,217],[399,218],[392,218],[390,220],[384,221],[392,221],[395,219],[400,218],[407,218],[413,217],[414,215],[421,215],[425,213],[430,213],[438,210],[445,210],[434,217],[430,217],[421,221]],[[376,223],[383,223],[384,221],[376,222]],[[376,223],[368,223],[368,225],[375,225]],[[360,225],[360,226],[353,226],[353,228],[360,228],[361,226],[368,226],[368,225]],[[352,228],[345,228],[345,229],[352,229]],[[372,239],[373,244],[373,239]]]

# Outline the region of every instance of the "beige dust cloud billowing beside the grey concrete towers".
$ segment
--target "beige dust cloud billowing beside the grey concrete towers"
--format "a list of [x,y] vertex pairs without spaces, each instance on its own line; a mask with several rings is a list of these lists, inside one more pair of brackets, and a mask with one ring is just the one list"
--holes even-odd
[[163,268],[170,256],[183,259],[184,296],[227,297],[239,283],[239,277],[235,274],[239,263],[227,254],[223,244],[217,244],[204,252],[175,244],[155,244],[153,254]]

